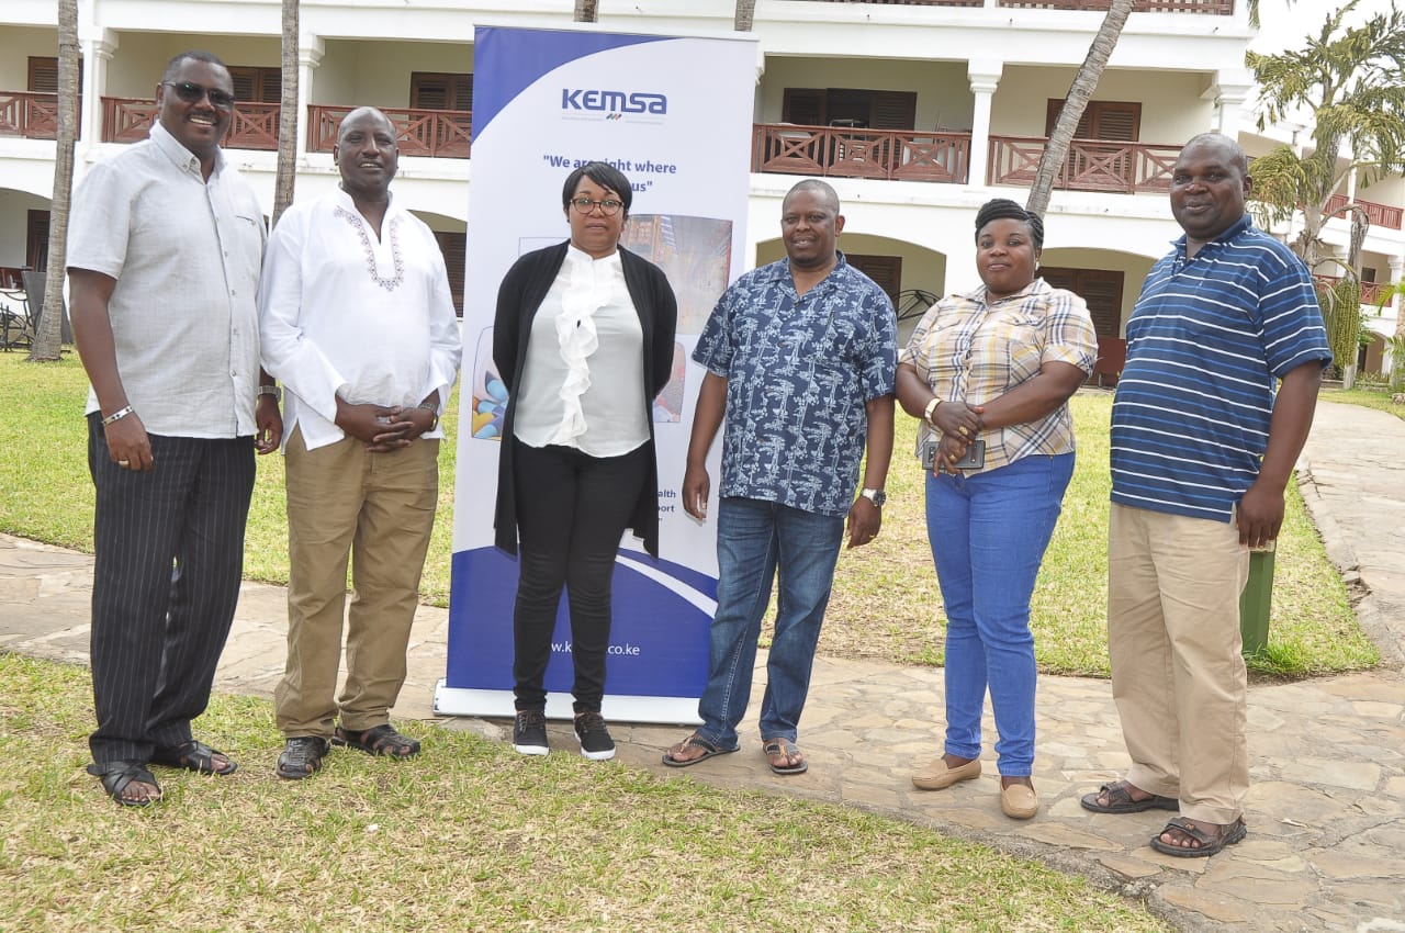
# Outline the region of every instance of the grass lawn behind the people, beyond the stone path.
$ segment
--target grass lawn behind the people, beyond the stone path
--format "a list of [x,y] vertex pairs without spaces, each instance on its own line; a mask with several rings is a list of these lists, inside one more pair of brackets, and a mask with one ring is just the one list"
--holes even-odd
[[[0,354],[0,405],[8,413],[0,420],[0,530],[91,551],[93,486],[81,417],[86,386],[72,354],[44,365],[27,364],[21,354]],[[443,419],[448,438],[440,448],[440,511],[422,583],[423,599],[437,606],[447,603],[450,590],[457,399],[455,392]],[[1031,614],[1037,659],[1048,673],[1107,674],[1110,406],[1106,392],[1080,393],[1072,402],[1078,469]],[[839,561],[819,648],[830,656],[943,662],[946,627],[927,545],[923,471],[910,455],[915,434],[916,422],[899,412],[882,534],[871,545],[844,551]],[[270,583],[288,580],[277,454],[259,461],[244,573]],[[1293,488],[1279,541],[1269,651],[1253,666],[1274,676],[1312,676],[1377,662],[1378,652],[1356,624],[1346,587]]]

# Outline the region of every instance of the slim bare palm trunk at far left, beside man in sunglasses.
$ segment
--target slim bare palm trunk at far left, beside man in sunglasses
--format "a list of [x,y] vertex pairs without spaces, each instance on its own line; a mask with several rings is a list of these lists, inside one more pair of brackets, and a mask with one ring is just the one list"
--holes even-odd
[[49,249],[44,275],[39,329],[30,360],[59,358],[63,325],[63,266],[73,194],[73,146],[79,138],[79,4],[59,0],[59,125],[53,152],[53,202],[49,205]]

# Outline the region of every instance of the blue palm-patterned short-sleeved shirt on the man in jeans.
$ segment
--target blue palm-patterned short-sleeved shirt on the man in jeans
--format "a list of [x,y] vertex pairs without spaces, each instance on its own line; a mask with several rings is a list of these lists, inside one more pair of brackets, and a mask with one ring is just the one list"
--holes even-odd
[[726,379],[722,496],[849,513],[865,405],[894,391],[898,322],[882,288],[843,254],[804,296],[790,260],[763,266],[722,295],[693,360]]

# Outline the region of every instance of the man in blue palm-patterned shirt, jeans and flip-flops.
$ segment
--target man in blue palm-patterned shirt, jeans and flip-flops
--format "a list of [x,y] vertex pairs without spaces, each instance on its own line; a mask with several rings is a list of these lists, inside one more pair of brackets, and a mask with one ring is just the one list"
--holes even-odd
[[[787,259],[742,275],[712,311],[693,360],[707,367],[693,417],[683,507],[707,520],[707,454],[718,427],[717,614],[702,725],[663,763],[735,752],[752,694],[762,615],[780,576],[762,701],[762,745],[777,774],[808,767],[795,745],[819,627],[849,523],[849,547],[882,524],[898,358],[892,302],[844,261],[839,197],[805,180],[781,205]],[[854,496],[868,447],[863,492]]]

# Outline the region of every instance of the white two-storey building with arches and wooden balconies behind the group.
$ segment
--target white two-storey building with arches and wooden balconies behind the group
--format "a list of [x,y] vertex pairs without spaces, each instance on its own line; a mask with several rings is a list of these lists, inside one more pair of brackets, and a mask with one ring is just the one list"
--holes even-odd
[[[781,195],[799,176],[822,176],[844,205],[843,249],[895,298],[972,287],[975,208],[991,197],[1024,200],[1104,7],[1106,0],[757,0],[750,259],[781,256]],[[731,0],[603,0],[596,28],[728,32],[732,14]],[[280,4],[84,0],[79,15],[76,174],[145,136],[166,62],[207,49],[230,66],[247,101],[226,150],[270,209]],[[396,197],[440,233],[451,268],[462,270],[473,25],[570,28],[570,0],[303,0],[298,197],[334,184],[330,150],[340,117],[355,105],[381,107],[403,128]],[[1184,141],[1215,129],[1257,155],[1288,139],[1288,129],[1253,131],[1252,76],[1243,67],[1252,38],[1246,0],[1139,0],[1085,115],[1045,218],[1043,267],[1087,298],[1109,374],[1121,368],[1123,323],[1142,277],[1179,233],[1166,185]],[[7,0],[0,267],[11,271],[37,266],[46,243],[56,45],[52,0]],[[1397,281],[1405,183],[1360,194],[1373,219],[1366,280]],[[1346,235],[1340,221],[1326,233],[1343,252]],[[1392,332],[1394,309],[1387,313],[1380,329]],[[1366,368],[1380,368],[1378,350]]]

